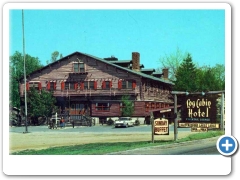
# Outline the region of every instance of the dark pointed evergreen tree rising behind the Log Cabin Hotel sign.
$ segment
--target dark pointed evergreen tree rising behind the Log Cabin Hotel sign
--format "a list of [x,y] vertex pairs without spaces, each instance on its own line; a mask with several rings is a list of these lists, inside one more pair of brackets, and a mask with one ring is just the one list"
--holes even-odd
[[197,70],[188,53],[176,71],[176,81],[174,90],[177,91],[198,91],[197,89]]

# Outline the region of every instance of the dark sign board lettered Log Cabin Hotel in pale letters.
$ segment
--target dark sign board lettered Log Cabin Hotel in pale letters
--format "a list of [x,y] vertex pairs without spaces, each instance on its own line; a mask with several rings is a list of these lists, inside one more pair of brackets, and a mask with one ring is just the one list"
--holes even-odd
[[217,98],[186,96],[182,99],[182,122],[216,123]]

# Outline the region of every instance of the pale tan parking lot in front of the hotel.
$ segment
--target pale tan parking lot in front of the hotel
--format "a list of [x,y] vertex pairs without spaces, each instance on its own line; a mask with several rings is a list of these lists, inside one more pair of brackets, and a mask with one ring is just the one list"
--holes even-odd
[[[190,129],[181,128],[178,137],[186,137],[192,133]],[[155,140],[173,140],[173,126],[170,125],[169,135],[155,136]],[[128,128],[114,126],[71,126],[63,129],[48,129],[44,126],[9,127],[10,153],[26,149],[44,149],[56,146],[69,146],[86,143],[136,142],[151,141],[151,126],[140,125]]]

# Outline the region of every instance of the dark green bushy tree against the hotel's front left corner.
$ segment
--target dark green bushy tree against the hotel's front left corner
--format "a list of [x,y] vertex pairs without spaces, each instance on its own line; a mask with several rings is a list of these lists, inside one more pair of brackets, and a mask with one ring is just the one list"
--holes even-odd
[[27,94],[28,114],[34,118],[50,117],[56,111],[56,98],[52,92],[31,88]]

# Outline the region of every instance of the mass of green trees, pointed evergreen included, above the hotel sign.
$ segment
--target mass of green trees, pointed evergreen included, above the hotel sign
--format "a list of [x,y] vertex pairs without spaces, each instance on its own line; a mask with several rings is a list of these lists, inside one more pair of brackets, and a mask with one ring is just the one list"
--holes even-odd
[[216,64],[214,67],[197,68],[188,54],[177,68],[175,91],[218,91],[225,89],[225,66]]

